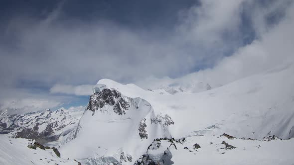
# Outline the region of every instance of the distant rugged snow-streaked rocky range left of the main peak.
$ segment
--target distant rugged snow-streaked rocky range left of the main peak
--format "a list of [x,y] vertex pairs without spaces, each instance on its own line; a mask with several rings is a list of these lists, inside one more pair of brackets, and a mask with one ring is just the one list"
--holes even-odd
[[5,110],[0,113],[0,134],[35,139],[39,143],[56,141],[74,129],[82,113],[83,110],[72,112],[61,108],[10,115]]

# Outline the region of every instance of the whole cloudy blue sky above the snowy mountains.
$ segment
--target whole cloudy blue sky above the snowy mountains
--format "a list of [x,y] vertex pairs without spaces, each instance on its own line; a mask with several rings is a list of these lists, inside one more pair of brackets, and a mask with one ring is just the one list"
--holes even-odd
[[[247,68],[259,61],[254,52],[285,47],[288,56],[287,44],[264,38],[292,34],[282,30],[291,29],[292,10],[293,0],[2,0],[0,108],[86,105],[103,78],[197,72],[224,84],[258,73],[278,61],[265,53],[262,67]],[[238,74],[228,69],[233,60]]]

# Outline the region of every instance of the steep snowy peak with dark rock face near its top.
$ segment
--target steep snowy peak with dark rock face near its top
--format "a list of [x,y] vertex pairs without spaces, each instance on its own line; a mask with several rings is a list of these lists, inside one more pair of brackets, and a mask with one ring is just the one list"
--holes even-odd
[[146,100],[126,97],[115,89],[96,90],[73,140],[60,147],[65,158],[118,163],[124,153],[134,161],[154,138],[171,137],[168,125],[172,121],[166,115],[155,116]]

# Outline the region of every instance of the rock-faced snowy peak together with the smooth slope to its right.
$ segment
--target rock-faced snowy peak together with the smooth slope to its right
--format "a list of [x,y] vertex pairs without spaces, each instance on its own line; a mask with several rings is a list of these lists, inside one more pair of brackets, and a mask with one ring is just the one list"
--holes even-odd
[[[134,164],[155,138],[213,137],[223,133],[237,138],[292,138],[293,73],[293,64],[282,65],[211,90],[177,94],[100,80],[79,127],[60,151],[87,164]],[[121,98],[130,106],[125,106]],[[173,124],[164,128],[169,119]],[[147,133],[148,138],[140,133]]]

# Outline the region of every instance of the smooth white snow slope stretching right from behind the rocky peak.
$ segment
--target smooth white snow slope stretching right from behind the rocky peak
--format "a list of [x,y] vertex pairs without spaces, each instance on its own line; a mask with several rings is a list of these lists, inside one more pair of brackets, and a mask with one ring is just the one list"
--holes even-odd
[[174,138],[227,132],[245,138],[288,139],[294,137],[293,73],[294,65],[288,64],[208,91],[175,95],[106,79],[98,84],[147,100],[155,115],[168,114],[175,123],[169,129]]

